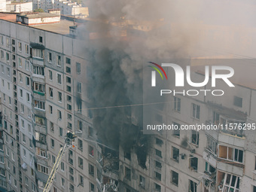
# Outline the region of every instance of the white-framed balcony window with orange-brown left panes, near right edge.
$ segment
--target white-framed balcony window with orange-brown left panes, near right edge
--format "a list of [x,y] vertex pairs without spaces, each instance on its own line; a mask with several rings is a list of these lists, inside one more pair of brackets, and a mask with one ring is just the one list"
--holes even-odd
[[218,157],[220,157],[220,158],[235,161],[238,163],[243,163],[243,151],[242,150],[220,145],[218,151],[219,151]]

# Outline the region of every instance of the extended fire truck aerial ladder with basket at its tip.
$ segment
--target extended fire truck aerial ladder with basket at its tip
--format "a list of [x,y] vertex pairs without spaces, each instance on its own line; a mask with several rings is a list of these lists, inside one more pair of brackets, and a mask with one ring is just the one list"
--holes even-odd
[[53,184],[53,180],[55,178],[55,175],[58,172],[59,164],[62,162],[62,158],[64,157],[64,154],[66,153],[67,149],[75,147],[75,145],[73,145],[73,143],[75,142],[76,137],[78,137],[78,136],[75,136],[74,133],[71,133],[71,132],[67,133],[67,135],[65,137],[65,144],[59,150],[59,154],[56,158],[56,162],[53,165],[53,169],[50,172],[49,178],[47,180],[47,183],[45,184],[43,192],[49,192],[50,191],[50,188]]

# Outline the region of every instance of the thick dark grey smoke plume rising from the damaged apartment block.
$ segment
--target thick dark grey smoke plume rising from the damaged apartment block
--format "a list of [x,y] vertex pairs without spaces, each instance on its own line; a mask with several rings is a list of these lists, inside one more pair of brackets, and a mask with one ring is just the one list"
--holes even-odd
[[[93,123],[105,145],[117,149],[122,145],[126,151],[131,148],[141,151],[139,146],[144,144],[147,150],[150,148],[150,136],[147,139],[141,132],[142,106],[112,108],[143,102],[142,69],[146,62],[163,59],[172,62],[177,58],[216,54],[215,48],[221,47],[221,40],[212,39],[215,31],[208,35],[212,25],[223,25],[233,18],[237,20],[232,20],[232,24],[240,25],[243,18],[249,17],[232,17],[236,11],[229,10],[230,1],[207,2],[212,7],[203,0],[89,2],[92,20],[83,32],[87,36],[87,54],[93,72],[92,106],[101,108],[93,110]],[[234,6],[238,8],[237,5],[231,8]],[[227,14],[220,13],[220,8]],[[231,28],[219,26],[218,29],[221,33]]]

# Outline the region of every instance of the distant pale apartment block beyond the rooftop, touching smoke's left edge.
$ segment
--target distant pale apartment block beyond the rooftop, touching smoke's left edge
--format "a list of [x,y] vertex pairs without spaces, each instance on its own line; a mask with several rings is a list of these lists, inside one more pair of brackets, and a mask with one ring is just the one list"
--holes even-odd
[[55,1],[54,8],[60,9],[61,14],[79,18],[89,17],[88,8],[82,7],[77,2],[72,1]]

